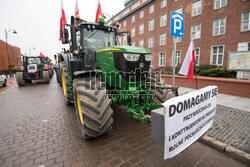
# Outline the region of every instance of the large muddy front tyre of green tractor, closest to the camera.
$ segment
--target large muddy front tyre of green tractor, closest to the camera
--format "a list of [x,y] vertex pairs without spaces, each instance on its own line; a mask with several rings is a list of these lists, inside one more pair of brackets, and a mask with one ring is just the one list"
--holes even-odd
[[[94,85],[98,85],[94,89]],[[98,78],[77,78],[73,81],[77,120],[84,139],[102,136],[112,129],[111,100],[104,83]],[[90,88],[92,89],[90,90]]]

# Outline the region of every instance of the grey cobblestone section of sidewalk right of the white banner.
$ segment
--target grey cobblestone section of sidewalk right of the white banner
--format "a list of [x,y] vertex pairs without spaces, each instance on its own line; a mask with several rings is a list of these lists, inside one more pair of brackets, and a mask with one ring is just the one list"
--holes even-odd
[[217,105],[213,126],[207,135],[250,153],[250,112]]

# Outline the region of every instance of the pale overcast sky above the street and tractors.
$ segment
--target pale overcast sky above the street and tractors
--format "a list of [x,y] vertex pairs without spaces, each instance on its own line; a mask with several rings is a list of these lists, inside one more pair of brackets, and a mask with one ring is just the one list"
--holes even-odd
[[[102,12],[110,16],[124,8],[124,0],[100,0]],[[67,22],[74,15],[75,0],[63,0]],[[80,17],[94,21],[97,0],[78,0]],[[21,48],[22,54],[39,55],[40,51],[53,58],[60,52],[59,39],[61,0],[0,0],[0,39],[5,41],[4,30],[15,29],[18,34],[8,33],[8,43]],[[107,17],[106,21],[109,18]],[[35,47],[35,49],[33,49]]]

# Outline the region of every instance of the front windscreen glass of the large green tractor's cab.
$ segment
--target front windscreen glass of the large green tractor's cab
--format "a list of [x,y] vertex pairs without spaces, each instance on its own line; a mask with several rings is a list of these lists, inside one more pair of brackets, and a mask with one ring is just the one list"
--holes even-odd
[[84,62],[86,67],[95,63],[95,52],[104,47],[115,45],[115,33],[103,30],[83,29]]

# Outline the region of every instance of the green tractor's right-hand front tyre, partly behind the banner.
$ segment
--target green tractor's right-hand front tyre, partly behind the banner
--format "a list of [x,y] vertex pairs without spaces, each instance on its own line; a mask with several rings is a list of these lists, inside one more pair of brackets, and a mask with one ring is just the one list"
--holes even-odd
[[[166,86],[165,82],[162,81],[160,78],[160,75],[152,75],[148,78],[148,82],[151,83],[151,94],[153,94],[153,97],[150,97],[150,101],[155,102],[157,104],[164,103],[165,101],[178,96],[178,92],[172,90],[172,89],[163,89],[159,87]],[[156,87],[155,87],[156,86]],[[157,88],[158,86],[158,88]]]

